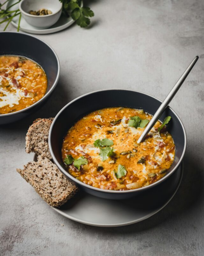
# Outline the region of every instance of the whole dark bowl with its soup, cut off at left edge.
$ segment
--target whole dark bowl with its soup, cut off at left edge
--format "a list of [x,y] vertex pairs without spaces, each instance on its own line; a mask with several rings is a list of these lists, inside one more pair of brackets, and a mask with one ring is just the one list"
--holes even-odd
[[0,32],[0,124],[15,122],[37,110],[59,79],[55,51],[22,33]]

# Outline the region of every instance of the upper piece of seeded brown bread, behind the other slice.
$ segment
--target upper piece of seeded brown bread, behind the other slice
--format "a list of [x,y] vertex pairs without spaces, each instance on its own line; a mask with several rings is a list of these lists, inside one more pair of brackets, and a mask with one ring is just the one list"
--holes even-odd
[[52,159],[48,146],[48,134],[54,118],[38,118],[33,121],[25,137],[25,152],[34,152]]

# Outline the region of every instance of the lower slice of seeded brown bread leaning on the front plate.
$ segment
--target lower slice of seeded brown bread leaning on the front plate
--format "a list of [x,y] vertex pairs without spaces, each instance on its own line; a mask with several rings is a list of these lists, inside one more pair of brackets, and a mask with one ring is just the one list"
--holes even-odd
[[67,180],[49,159],[38,156],[17,172],[28,182],[47,204],[61,206],[75,195],[78,188]]

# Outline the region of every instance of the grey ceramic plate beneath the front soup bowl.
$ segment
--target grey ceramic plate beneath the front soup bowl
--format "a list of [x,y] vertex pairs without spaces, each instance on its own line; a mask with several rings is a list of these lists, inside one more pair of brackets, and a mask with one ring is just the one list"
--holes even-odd
[[153,194],[147,193],[128,200],[103,199],[79,192],[60,208],[52,208],[70,220],[91,226],[117,227],[133,224],[159,212],[171,201],[181,183],[183,163],[176,172],[179,175],[176,175],[178,178],[174,186],[165,191],[157,189]]

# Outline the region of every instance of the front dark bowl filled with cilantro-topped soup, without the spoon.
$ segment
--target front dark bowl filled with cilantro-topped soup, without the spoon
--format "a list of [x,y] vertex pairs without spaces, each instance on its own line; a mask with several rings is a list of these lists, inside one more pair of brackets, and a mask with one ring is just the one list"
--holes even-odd
[[[137,143],[160,104],[145,93],[119,89],[69,102],[49,132],[55,164],[69,180],[99,197],[125,199],[155,186],[165,189],[186,150],[180,118],[166,108],[145,140]],[[167,116],[171,120],[163,126]]]

